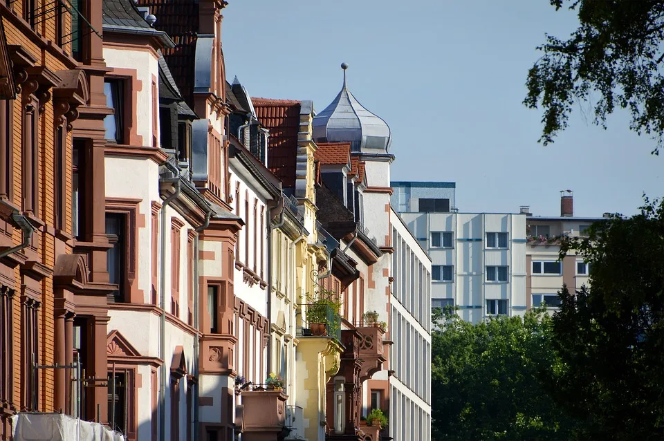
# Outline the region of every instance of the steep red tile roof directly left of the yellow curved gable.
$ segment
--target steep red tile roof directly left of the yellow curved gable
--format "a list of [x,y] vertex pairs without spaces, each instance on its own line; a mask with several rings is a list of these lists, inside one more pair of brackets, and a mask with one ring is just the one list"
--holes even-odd
[[284,188],[293,188],[302,102],[268,98],[252,98],[251,101],[256,117],[270,131],[268,169],[282,180]]

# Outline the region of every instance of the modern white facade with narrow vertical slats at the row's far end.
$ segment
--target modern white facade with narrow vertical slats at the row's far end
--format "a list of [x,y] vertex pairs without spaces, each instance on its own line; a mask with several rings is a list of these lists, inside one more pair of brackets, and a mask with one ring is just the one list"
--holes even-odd
[[[431,259],[391,209],[389,329],[389,435],[394,440],[431,439]],[[422,366],[427,366],[423,369]]]

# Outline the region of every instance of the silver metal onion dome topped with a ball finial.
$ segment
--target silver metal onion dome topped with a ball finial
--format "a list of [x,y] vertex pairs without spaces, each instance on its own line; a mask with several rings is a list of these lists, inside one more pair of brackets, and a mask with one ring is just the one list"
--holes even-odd
[[348,65],[344,63],[341,67],[344,86],[329,106],[313,118],[314,141],[350,142],[351,151],[387,153],[391,140],[389,126],[350,93],[346,85]]

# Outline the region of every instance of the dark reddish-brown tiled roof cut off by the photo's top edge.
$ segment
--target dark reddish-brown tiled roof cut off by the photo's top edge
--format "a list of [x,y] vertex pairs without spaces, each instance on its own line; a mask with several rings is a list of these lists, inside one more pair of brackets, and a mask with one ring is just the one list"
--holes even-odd
[[[131,1],[131,0],[129,0]],[[199,2],[196,0],[138,0],[157,17],[154,28],[163,30],[176,46],[164,50],[164,57],[185,102],[194,107],[194,61],[199,30]]]

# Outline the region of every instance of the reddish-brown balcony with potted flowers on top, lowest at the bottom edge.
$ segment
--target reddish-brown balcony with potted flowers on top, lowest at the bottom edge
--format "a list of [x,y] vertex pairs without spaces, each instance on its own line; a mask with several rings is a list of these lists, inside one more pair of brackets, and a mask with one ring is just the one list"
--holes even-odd
[[263,384],[253,385],[241,392],[244,406],[245,441],[272,441],[282,439],[286,426],[286,400],[282,389],[270,389]]

